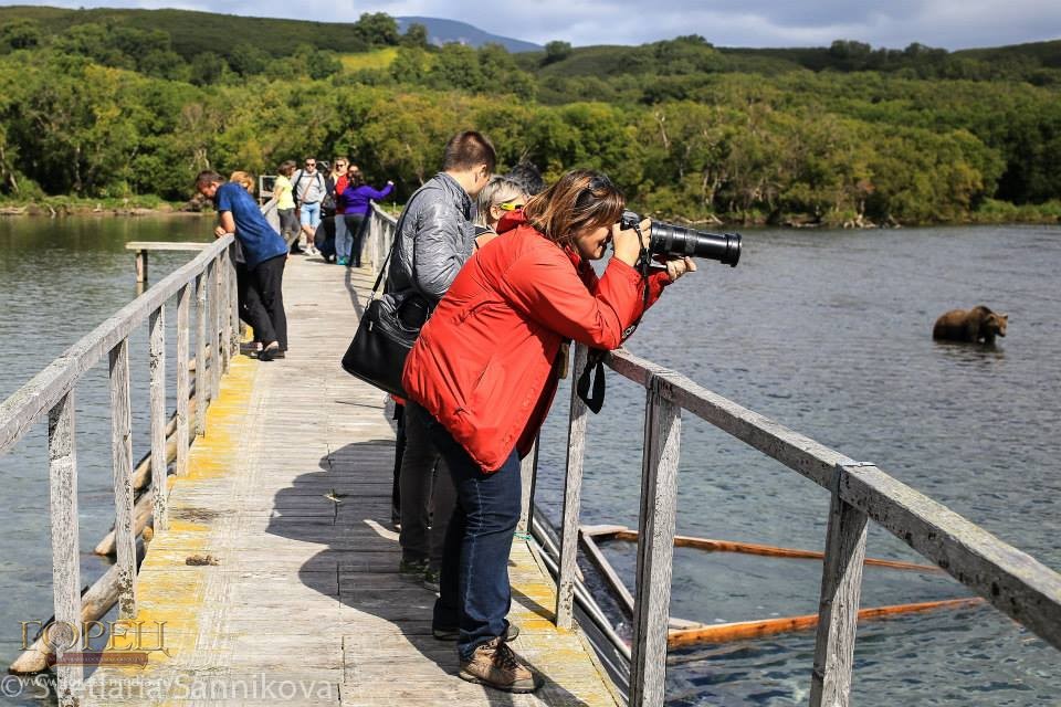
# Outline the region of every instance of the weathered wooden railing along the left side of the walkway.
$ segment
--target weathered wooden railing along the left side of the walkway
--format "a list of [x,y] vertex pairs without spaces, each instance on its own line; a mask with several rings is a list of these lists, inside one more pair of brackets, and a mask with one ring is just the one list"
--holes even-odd
[[[61,705],[73,705],[73,689],[83,667],[62,662],[62,646],[74,645],[82,627],[80,532],[77,526],[77,454],[74,399],[85,371],[104,355],[111,379],[112,461],[115,535],[117,542],[118,618],[136,614],[136,531],[134,529],[132,410],[129,401],[129,336],[147,323],[150,370],[151,493],[154,526],[164,532],[167,518],[166,464],[166,328],[167,303],[177,300],[176,345],[176,472],[188,468],[189,398],[191,381],[191,299],[196,298],[196,433],[206,434],[209,400],[217,398],[221,373],[238,347],[239,319],[234,272],[234,239],[225,235],[208,245],[154,287],[123,307],[94,331],[52,361],[30,382],[0,404],[0,454],[10,450],[39,420],[48,416],[48,457],[52,534],[52,582],[55,624],[49,644],[56,648],[57,693]],[[208,360],[209,359],[209,360]],[[74,634],[74,635],[71,635]]]

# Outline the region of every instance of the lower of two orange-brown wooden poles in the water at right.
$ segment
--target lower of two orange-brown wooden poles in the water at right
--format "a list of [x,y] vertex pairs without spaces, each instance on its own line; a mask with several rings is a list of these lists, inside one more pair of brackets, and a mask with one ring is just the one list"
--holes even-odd
[[[875,619],[886,619],[889,616],[921,613],[925,611],[937,611],[941,609],[965,609],[967,606],[978,606],[983,603],[984,600],[979,597],[970,597],[967,599],[926,601],[915,604],[876,606],[873,609],[862,609],[859,611],[859,621],[872,621]],[[761,621],[737,621],[733,623],[719,623],[716,625],[704,624],[696,629],[671,631],[666,639],[666,646],[669,648],[676,648],[679,646],[698,643],[728,643],[731,641],[760,639],[763,636],[770,636],[779,633],[807,631],[816,627],[817,625],[818,614],[784,616],[780,619],[764,619]]]

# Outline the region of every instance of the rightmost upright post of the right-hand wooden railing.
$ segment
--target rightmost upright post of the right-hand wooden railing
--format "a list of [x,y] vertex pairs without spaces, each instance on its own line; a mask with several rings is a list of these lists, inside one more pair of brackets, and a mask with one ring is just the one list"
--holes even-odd
[[859,625],[862,566],[865,560],[866,515],[840,498],[840,478],[848,466],[838,464],[829,508],[826,559],[818,605],[811,707],[851,704],[854,635]]

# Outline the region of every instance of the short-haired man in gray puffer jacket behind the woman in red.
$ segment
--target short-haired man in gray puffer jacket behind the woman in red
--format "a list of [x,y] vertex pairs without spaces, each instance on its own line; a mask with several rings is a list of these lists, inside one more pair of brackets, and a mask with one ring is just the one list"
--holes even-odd
[[[460,133],[447,144],[442,171],[409,198],[401,215],[387,274],[388,292],[419,293],[430,309],[442,299],[472,256],[472,209],[475,197],[490,181],[495,161],[494,146],[479,133]],[[428,437],[420,416],[427,413],[412,408],[406,409],[406,449],[399,473],[400,569],[407,574],[422,574],[424,585],[438,590],[445,529],[456,493],[449,469]],[[429,508],[434,509],[433,519]]]

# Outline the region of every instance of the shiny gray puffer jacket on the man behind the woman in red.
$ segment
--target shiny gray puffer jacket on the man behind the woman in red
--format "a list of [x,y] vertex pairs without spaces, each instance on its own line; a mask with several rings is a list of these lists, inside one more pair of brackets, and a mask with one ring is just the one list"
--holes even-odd
[[387,289],[416,289],[434,305],[472,256],[472,199],[455,179],[439,172],[410,197],[400,221]]

